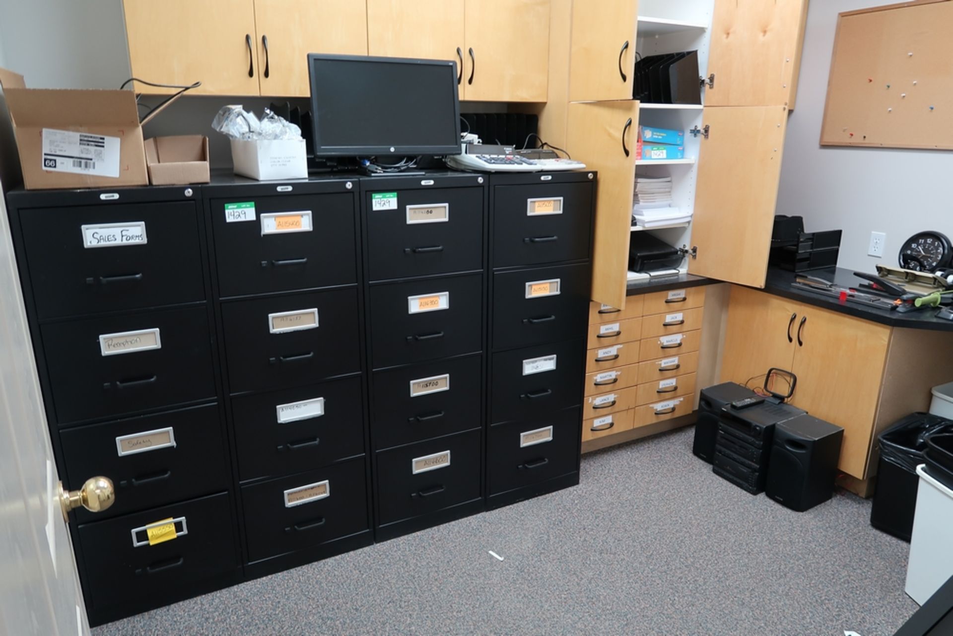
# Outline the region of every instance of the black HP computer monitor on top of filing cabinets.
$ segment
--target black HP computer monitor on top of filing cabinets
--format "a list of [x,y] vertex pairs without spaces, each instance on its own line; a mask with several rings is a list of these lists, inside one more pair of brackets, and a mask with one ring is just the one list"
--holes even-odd
[[456,62],[308,55],[314,156],[460,154]]

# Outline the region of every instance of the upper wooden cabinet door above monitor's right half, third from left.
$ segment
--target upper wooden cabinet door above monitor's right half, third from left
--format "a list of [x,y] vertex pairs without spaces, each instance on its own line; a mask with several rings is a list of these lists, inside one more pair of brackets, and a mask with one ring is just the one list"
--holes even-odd
[[385,57],[456,60],[463,98],[463,0],[367,0],[367,51]]

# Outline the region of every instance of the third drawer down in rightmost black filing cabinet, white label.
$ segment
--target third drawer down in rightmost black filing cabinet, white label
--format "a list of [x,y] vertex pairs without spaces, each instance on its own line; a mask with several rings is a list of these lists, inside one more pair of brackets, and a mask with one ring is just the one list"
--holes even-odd
[[528,420],[582,400],[582,342],[515,349],[493,355],[491,421]]

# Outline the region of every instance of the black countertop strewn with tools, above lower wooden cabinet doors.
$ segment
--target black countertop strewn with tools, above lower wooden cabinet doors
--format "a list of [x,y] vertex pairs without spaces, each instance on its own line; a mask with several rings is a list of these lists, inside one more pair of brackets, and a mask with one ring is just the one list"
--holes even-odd
[[[848,270],[842,267],[811,270],[810,272],[803,272],[803,274],[830,280],[840,287],[852,287],[857,289],[858,285],[863,282],[862,278],[854,276],[854,270]],[[936,318],[937,312],[939,311],[938,309],[922,309],[900,314],[897,311],[869,307],[857,302],[841,302],[840,299],[835,297],[823,296],[815,292],[793,287],[792,283],[797,276],[798,275],[794,272],[769,268],[764,291],[776,296],[791,298],[792,300],[821,307],[822,309],[840,312],[847,316],[879,322],[890,327],[953,332],[953,320]]]

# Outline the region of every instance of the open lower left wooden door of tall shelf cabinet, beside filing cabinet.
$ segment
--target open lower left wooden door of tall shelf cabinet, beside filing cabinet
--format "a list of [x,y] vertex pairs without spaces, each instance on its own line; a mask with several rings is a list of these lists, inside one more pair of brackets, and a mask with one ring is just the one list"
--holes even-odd
[[569,105],[566,150],[598,171],[593,300],[625,308],[639,102]]

